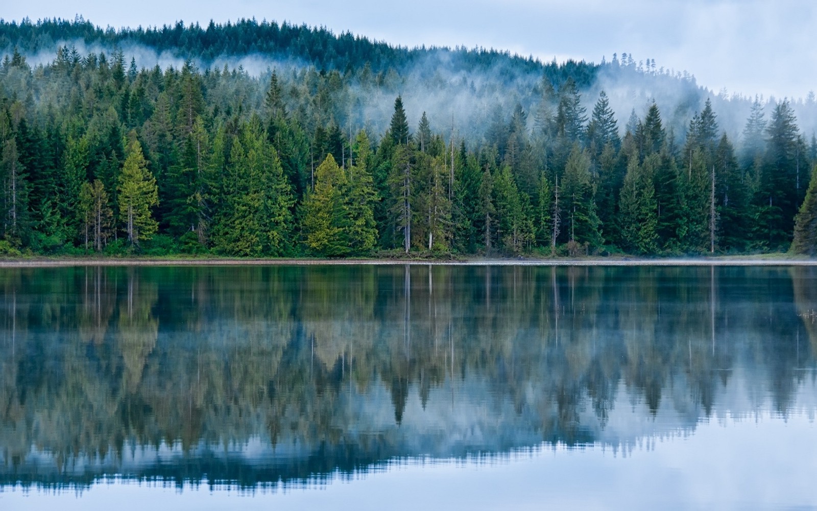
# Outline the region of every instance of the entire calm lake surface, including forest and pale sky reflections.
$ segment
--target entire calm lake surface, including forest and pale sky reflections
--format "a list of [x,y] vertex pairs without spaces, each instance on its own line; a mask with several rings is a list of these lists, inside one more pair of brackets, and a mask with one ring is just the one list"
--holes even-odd
[[0,271],[0,509],[817,509],[811,267]]

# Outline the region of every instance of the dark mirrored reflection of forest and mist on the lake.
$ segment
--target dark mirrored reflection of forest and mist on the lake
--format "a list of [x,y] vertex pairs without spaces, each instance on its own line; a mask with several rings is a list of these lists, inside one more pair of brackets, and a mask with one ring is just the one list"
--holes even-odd
[[813,414],[797,396],[817,374],[815,283],[811,267],[5,269],[0,485],[254,487]]

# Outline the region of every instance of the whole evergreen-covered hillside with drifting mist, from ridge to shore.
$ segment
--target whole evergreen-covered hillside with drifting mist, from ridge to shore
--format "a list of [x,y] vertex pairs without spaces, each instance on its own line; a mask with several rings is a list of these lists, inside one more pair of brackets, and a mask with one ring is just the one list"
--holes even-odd
[[255,20],[3,47],[0,254],[815,251],[813,95]]

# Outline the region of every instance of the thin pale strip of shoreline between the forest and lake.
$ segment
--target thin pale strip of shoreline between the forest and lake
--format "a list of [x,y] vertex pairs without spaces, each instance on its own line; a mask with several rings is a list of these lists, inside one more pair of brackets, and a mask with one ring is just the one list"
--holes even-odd
[[781,255],[715,256],[711,258],[465,258],[440,259],[310,259],[310,258],[13,258],[0,259],[0,268],[48,267],[189,267],[189,266],[541,266],[541,267],[809,267],[817,258]]

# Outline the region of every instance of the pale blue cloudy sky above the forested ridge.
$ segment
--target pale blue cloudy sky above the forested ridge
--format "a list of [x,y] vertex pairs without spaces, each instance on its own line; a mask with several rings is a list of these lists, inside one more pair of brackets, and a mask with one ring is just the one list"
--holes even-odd
[[598,62],[627,52],[685,69],[716,92],[780,98],[817,89],[817,4],[807,0],[29,0],[7,2],[0,16],[76,14],[117,28],[254,16],[409,47],[493,47],[544,61]]

